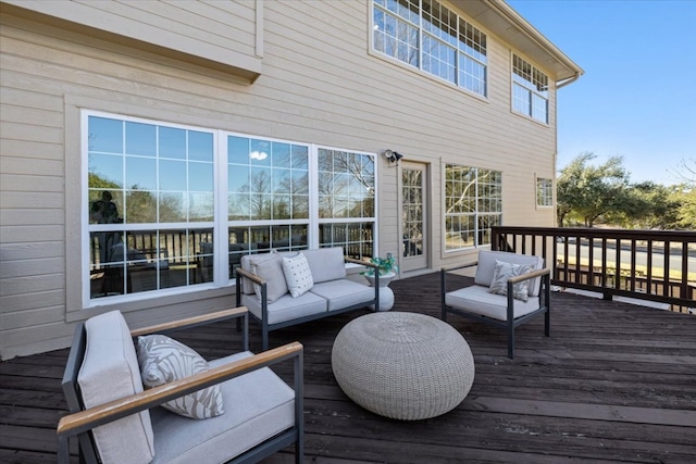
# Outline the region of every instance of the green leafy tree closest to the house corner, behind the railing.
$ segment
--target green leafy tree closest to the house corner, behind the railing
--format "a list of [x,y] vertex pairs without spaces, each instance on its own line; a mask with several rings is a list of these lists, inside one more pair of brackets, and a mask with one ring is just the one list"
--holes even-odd
[[602,215],[624,211],[634,202],[623,159],[612,156],[599,166],[589,165],[595,158],[592,152],[581,153],[561,170],[557,181],[559,226],[569,220],[592,227]]

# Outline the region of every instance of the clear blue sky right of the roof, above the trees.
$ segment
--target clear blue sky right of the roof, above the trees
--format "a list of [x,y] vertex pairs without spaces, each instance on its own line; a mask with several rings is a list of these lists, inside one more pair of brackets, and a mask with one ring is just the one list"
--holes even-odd
[[558,170],[589,151],[672,185],[696,165],[696,0],[507,2],[585,72],[558,90]]

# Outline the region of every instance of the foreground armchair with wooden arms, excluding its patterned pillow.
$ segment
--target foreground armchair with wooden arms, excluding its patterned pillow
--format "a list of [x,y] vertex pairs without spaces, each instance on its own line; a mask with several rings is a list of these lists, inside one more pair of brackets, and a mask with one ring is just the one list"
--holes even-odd
[[[144,390],[134,337],[237,317],[243,352]],[[268,367],[286,360],[294,362],[294,388]],[[84,463],[252,463],[291,444],[295,462],[303,462],[302,346],[249,352],[246,308],[137,330],[119,311],[95,316],[75,330],[62,385],[71,414],[58,424],[59,463],[70,461],[73,437]],[[213,386],[224,401],[222,415],[191,419],[157,407]]]

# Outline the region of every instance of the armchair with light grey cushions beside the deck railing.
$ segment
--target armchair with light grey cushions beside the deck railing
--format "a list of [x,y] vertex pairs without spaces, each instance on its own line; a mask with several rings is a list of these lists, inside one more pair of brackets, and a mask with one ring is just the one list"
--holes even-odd
[[[498,263],[502,263],[498,265]],[[496,273],[501,266],[529,266],[524,274],[502,280]],[[451,271],[476,266],[474,285],[447,291],[447,274]],[[495,291],[502,287],[505,291]],[[520,289],[519,286],[523,286]],[[489,291],[492,290],[492,291]],[[507,293],[507,294],[506,294]],[[442,317],[449,313],[504,328],[508,336],[508,356],[514,358],[514,329],[531,318],[544,314],[545,335],[550,335],[550,271],[544,260],[504,251],[481,251],[478,261],[464,266],[443,268],[440,272]]]

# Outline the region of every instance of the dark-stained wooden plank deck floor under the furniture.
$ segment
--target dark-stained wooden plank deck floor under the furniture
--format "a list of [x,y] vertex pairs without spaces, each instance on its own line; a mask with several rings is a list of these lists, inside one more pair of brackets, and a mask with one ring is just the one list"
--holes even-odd
[[[391,283],[393,311],[438,316],[438,274]],[[474,354],[474,385],[457,409],[420,422],[372,414],[334,379],[333,340],[366,311],[272,333],[272,346],[304,343],[307,462],[696,463],[696,316],[566,292],[552,302],[551,337],[542,318],[523,325],[514,360],[501,331],[451,317]],[[251,334],[258,351],[253,325]],[[238,347],[232,324],[179,339],[210,358]],[[61,350],[0,365],[0,462],[55,461],[65,358]],[[265,462],[289,463],[287,451]]]

